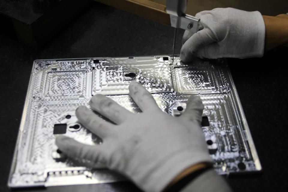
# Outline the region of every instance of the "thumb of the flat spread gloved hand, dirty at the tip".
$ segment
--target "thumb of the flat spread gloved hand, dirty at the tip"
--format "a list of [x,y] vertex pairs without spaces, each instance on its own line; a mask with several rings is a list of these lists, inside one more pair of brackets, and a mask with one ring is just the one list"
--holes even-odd
[[204,107],[200,97],[197,95],[191,95],[186,102],[186,109],[184,113],[179,118],[183,118],[201,125],[203,109]]

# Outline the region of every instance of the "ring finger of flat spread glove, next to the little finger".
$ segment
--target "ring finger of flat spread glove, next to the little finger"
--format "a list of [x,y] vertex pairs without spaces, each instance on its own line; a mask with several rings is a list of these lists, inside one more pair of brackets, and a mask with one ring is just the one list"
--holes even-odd
[[112,130],[115,128],[115,125],[100,118],[85,106],[79,106],[76,109],[76,117],[79,122],[85,126],[85,128],[102,139],[110,135]]

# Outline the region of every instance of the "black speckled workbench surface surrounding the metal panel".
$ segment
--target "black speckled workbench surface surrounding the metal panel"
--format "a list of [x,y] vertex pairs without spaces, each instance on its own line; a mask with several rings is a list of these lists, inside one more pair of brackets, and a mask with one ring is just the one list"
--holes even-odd
[[[174,29],[103,4],[91,7],[40,50],[0,35],[1,177],[7,178],[33,60],[171,54]],[[178,35],[180,52],[181,35]],[[288,48],[263,58],[228,59],[263,171],[227,179],[235,191],[287,191]],[[31,189],[26,189],[29,191]],[[32,191],[44,189],[33,189]],[[130,182],[48,187],[45,191],[139,191]]]

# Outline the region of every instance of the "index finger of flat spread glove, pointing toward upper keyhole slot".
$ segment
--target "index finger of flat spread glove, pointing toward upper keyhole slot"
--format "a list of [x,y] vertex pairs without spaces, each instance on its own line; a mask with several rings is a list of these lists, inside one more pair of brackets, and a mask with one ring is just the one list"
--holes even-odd
[[148,109],[160,110],[151,93],[138,82],[133,81],[130,83],[129,95],[143,112]]

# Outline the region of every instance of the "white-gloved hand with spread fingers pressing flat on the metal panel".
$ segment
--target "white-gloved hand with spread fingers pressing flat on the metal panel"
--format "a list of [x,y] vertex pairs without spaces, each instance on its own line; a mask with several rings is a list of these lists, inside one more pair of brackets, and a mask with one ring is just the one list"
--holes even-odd
[[189,98],[181,116],[172,117],[161,111],[141,84],[132,82],[129,91],[142,113],[131,113],[112,99],[95,95],[91,109],[116,125],[86,107],[78,107],[79,122],[103,143],[91,146],[58,136],[59,149],[71,158],[103,162],[145,191],[161,191],[187,167],[212,162],[200,127],[203,105],[198,96]]

